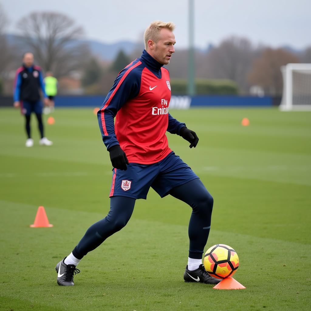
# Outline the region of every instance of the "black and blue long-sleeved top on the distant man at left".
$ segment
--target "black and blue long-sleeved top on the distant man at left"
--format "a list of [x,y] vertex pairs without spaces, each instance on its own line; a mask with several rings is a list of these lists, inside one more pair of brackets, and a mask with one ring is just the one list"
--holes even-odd
[[26,67],[24,64],[16,70],[14,83],[14,101],[26,100],[35,102],[40,100],[39,90],[47,97],[44,90],[42,71],[39,66]]

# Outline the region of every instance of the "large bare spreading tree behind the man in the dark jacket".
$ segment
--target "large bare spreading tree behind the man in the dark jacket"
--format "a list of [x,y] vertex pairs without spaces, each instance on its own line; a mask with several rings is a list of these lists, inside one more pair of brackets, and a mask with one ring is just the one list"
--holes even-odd
[[83,29],[68,16],[55,12],[33,12],[23,17],[17,28],[44,71],[50,70],[60,77],[82,67],[88,50],[77,39],[83,35]]

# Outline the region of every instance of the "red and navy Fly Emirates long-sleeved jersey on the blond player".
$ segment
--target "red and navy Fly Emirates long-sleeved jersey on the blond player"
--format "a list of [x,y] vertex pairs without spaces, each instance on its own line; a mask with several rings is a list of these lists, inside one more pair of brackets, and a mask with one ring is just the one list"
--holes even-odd
[[162,66],[144,50],[119,73],[97,113],[105,146],[120,145],[130,163],[164,159],[172,151],[166,131],[179,134],[185,126],[168,112],[169,71]]

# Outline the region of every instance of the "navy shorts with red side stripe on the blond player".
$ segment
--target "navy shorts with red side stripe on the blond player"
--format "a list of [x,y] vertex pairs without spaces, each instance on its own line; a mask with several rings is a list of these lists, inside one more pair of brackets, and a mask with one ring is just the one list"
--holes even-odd
[[199,178],[174,152],[154,164],[130,163],[126,171],[115,168],[112,171],[109,197],[146,199],[150,187],[165,197],[171,189]]

